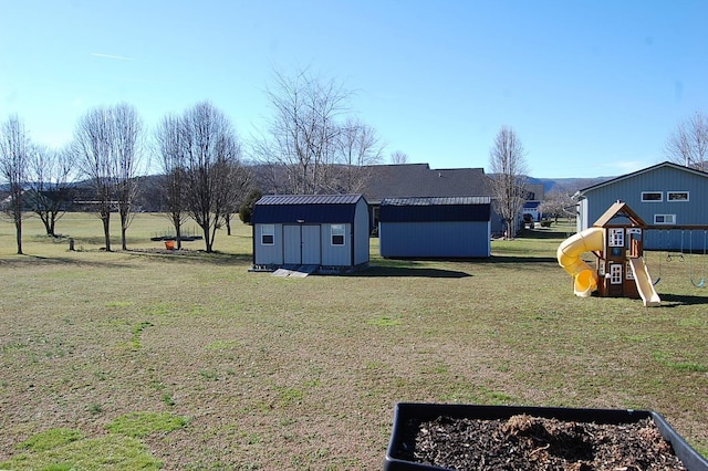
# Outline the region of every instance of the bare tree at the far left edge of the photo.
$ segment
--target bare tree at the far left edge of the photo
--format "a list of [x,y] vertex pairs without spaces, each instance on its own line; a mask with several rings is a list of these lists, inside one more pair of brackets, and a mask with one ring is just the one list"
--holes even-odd
[[18,254],[22,254],[22,193],[27,179],[29,134],[17,115],[10,116],[0,127],[0,177],[10,187],[10,196],[3,209],[14,222]]

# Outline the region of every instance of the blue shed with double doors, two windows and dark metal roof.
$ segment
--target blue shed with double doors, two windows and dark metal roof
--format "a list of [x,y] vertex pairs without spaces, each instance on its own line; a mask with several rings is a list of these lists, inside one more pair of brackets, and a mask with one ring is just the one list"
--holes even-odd
[[253,265],[355,268],[368,263],[362,195],[267,195],[253,207]]

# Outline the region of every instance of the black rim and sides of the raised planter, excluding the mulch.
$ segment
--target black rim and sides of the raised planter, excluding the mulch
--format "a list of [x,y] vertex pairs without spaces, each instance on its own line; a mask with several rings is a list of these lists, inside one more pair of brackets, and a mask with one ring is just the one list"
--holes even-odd
[[659,414],[649,410],[418,402],[399,402],[396,405],[391,442],[384,461],[384,471],[448,471],[446,468],[424,464],[406,458],[410,456],[410,448],[415,446],[415,442],[412,442],[412,437],[415,437],[419,425],[423,422],[435,420],[438,417],[496,420],[509,419],[518,415],[604,425],[633,423],[650,417],[662,436],[670,442],[674,453],[681,460],[688,471],[708,471],[708,460],[694,450]]

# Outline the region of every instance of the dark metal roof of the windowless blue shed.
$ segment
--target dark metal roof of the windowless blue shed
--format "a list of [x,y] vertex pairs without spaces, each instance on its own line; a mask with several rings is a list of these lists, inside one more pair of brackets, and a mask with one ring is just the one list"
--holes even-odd
[[386,198],[378,219],[386,222],[489,221],[490,197]]

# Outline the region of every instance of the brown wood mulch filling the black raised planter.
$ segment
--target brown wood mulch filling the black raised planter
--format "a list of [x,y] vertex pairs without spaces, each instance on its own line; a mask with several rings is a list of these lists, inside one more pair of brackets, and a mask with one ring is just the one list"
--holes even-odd
[[598,425],[440,417],[412,433],[407,459],[451,470],[686,470],[650,418]]

